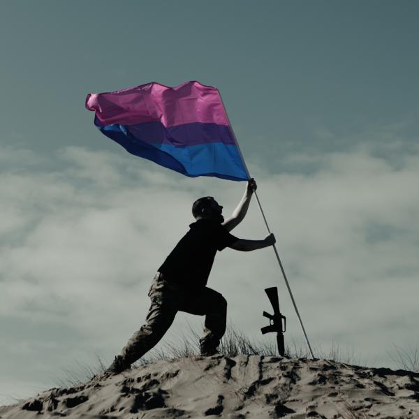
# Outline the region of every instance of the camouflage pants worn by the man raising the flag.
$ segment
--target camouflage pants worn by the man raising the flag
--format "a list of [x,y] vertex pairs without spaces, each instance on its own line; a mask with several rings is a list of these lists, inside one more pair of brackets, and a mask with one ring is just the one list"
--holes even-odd
[[132,364],[152,349],[170,328],[177,311],[205,316],[204,335],[200,339],[203,353],[219,346],[226,332],[227,302],[223,295],[207,287],[189,294],[165,281],[159,272],[154,277],[148,295],[152,304],[146,323],[122,349],[126,362]]

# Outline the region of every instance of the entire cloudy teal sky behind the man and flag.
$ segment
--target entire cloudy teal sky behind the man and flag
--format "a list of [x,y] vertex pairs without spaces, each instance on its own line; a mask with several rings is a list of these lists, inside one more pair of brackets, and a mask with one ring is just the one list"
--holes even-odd
[[[0,45],[0,404],[110,362],[154,274],[214,196],[93,125],[89,93],[198,80],[223,96],[315,354],[397,368],[419,346],[419,3],[5,1]],[[233,233],[267,234],[256,203]],[[251,339],[277,286],[286,344],[304,339],[272,249],[216,256],[208,284]],[[203,318],[178,313],[156,347]]]

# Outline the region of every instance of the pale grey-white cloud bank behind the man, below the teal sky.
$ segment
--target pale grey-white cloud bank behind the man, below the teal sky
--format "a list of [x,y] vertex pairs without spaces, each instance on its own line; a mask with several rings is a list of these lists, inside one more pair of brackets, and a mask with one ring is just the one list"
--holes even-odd
[[[24,155],[32,156],[8,152],[16,164]],[[55,157],[61,170],[10,169],[0,183],[0,319],[9,325],[1,363],[13,359],[28,382],[47,381],[45,374],[75,358],[119,351],[145,319],[149,283],[192,221],[193,200],[212,195],[228,213],[244,189],[124,154],[68,147]],[[337,337],[363,360],[386,362],[392,341],[415,343],[411,328],[419,318],[419,154],[397,168],[365,147],[293,159],[318,169],[251,170],[307,332],[316,344]],[[255,203],[233,233],[265,236]],[[270,309],[263,288],[278,286],[286,339],[301,339],[271,249],[219,253],[209,286],[227,297],[233,323],[257,338],[261,313]],[[203,319],[178,314],[167,339],[186,321],[197,327]],[[36,333],[25,334],[24,325]],[[38,355],[37,367],[15,351],[19,345]],[[13,380],[15,372],[7,374]]]

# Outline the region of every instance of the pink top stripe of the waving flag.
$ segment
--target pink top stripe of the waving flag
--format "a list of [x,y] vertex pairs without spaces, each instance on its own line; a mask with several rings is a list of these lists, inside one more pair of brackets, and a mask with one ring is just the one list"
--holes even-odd
[[153,82],[109,93],[88,94],[86,108],[96,111],[96,117],[105,125],[152,121],[160,121],[166,127],[191,122],[228,125],[219,91],[196,81],[177,87]]

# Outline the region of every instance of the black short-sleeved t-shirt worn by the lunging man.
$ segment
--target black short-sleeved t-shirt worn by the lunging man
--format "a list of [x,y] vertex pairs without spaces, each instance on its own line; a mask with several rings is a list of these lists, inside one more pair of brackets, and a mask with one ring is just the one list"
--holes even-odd
[[200,219],[177,243],[159,272],[182,288],[198,289],[207,285],[215,253],[233,244],[237,237],[228,233],[220,223]]

